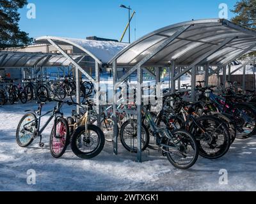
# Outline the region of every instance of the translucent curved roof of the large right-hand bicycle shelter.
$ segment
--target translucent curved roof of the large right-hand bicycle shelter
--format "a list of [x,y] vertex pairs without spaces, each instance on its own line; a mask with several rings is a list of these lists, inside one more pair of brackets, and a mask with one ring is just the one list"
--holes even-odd
[[[179,33],[182,28],[184,32]],[[170,38],[173,40],[163,46]],[[189,65],[208,54],[200,64],[209,62],[211,65],[221,66],[234,57],[255,51],[256,32],[224,19],[183,22],[143,36],[119,52],[109,64],[116,59],[118,66],[134,66],[161,46],[163,48],[157,50],[143,65],[168,66],[171,61],[175,61],[177,65]],[[216,52],[212,53],[212,50]]]

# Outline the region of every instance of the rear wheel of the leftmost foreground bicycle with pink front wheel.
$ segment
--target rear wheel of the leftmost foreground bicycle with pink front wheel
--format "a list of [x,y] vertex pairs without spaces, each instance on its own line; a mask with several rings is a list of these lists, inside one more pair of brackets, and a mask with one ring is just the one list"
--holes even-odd
[[34,113],[22,117],[16,131],[16,142],[20,147],[28,147],[33,142],[36,127],[37,119]]

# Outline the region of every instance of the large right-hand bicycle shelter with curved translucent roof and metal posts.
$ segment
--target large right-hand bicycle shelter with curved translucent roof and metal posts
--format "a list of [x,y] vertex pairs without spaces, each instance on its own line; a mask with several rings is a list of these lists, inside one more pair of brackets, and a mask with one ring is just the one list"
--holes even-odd
[[[156,83],[159,83],[159,69],[163,67],[168,67],[170,70],[169,88],[172,93],[175,92],[176,81],[179,81],[178,85],[180,85],[180,77],[186,73],[191,75],[190,101],[195,101],[196,67],[204,67],[206,85],[208,85],[209,76],[219,75],[220,70],[223,69],[223,84],[225,84],[230,63],[253,51],[256,51],[256,32],[225,19],[192,20],[163,27],[135,41],[109,61],[109,66],[113,67],[113,101],[116,101],[117,87],[132,73],[137,73],[138,87],[140,87],[143,83],[144,71],[153,75]],[[243,64],[241,68],[245,70],[246,64]],[[116,71],[120,67],[128,68],[129,71],[118,78]],[[154,68],[155,71],[152,72],[149,68]],[[229,75],[231,74],[229,71]],[[141,162],[141,90],[136,95],[137,158]],[[126,111],[129,112],[129,110]],[[115,103],[113,113],[116,124]],[[131,114],[133,113],[132,111]],[[116,124],[113,133],[115,154],[118,154],[117,128]]]

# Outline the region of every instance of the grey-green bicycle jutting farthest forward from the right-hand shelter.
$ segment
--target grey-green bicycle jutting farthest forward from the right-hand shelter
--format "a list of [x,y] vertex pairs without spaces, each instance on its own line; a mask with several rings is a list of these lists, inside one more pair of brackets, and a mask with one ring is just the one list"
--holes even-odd
[[[180,169],[188,169],[193,166],[198,159],[198,145],[196,143],[195,138],[191,136],[187,131],[183,129],[175,129],[170,131],[169,128],[159,128],[150,112],[148,112],[149,106],[147,108],[143,108],[143,117],[147,120],[148,124],[150,124],[150,129],[153,132],[153,135],[156,137],[157,145],[159,149],[162,150],[163,155],[168,158],[173,166]],[[134,147],[134,140],[137,138],[137,130],[136,130],[136,120],[127,121],[123,124],[121,129],[121,142],[124,145],[125,149],[129,149],[131,152],[137,152],[137,147]],[[131,134],[132,129],[127,128],[131,126],[135,133]],[[148,131],[145,129],[145,125],[142,124],[143,129],[145,130],[146,138],[149,138]],[[143,131],[142,131],[143,132]],[[126,142],[125,135],[128,134],[128,138],[130,138],[130,144]],[[129,140],[128,140],[129,141]],[[143,142],[143,139],[142,139]],[[135,141],[137,144],[137,142]],[[143,142],[143,149],[147,148],[147,141]]]

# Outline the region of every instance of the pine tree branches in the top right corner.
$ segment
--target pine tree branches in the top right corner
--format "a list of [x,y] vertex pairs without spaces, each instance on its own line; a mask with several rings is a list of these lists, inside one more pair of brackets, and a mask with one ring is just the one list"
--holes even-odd
[[256,0],[239,0],[234,6],[232,22],[256,31]]

